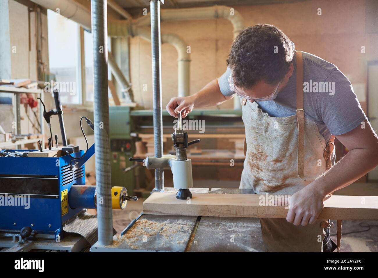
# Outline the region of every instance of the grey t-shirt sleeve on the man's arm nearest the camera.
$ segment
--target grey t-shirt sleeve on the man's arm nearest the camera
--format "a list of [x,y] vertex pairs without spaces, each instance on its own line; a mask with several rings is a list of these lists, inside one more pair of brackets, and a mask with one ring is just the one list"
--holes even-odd
[[328,91],[318,93],[316,99],[318,115],[333,135],[355,129],[366,119],[366,115],[353,92],[352,84],[339,70],[330,73],[325,82],[328,83]]

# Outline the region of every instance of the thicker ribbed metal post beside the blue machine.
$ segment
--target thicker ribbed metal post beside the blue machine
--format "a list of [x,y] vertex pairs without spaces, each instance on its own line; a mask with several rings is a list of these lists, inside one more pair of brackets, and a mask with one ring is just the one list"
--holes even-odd
[[98,242],[113,242],[112,183],[110,180],[108,32],[106,0],[91,0],[93,37],[93,87],[96,146]]

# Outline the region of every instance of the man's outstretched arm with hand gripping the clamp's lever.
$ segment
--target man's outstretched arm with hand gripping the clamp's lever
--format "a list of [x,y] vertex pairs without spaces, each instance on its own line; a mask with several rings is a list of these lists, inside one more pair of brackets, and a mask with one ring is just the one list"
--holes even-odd
[[170,99],[166,106],[169,115],[177,118],[181,111],[182,116],[186,117],[188,113],[195,108],[209,107],[219,105],[231,99],[232,96],[225,96],[219,88],[218,79],[209,82],[203,89],[192,96],[184,96]]

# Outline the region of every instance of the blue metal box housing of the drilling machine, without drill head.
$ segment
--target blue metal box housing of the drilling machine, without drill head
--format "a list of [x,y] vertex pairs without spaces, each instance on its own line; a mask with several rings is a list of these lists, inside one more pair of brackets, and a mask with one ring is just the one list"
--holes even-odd
[[[94,146],[82,161],[76,161],[86,161],[93,153]],[[84,151],[79,151],[74,156],[83,154]],[[4,201],[6,194],[8,199],[9,196],[30,196],[29,208],[25,204],[6,205],[0,199],[0,231],[20,231],[29,226],[36,233],[57,237],[64,222],[83,209],[70,207],[68,192],[72,185],[85,185],[84,162],[76,163],[72,170],[70,164],[75,165],[69,155],[0,157],[0,198]]]

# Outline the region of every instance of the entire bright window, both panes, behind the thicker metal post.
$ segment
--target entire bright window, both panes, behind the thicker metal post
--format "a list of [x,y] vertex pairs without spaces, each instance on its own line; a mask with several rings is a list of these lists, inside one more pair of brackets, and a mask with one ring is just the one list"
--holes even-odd
[[[51,10],[47,10],[47,22],[50,73],[55,75],[62,103],[91,106],[94,100],[92,34]],[[108,51],[110,41],[108,37]],[[109,68],[108,79],[112,79]],[[108,93],[111,96],[110,90]]]

